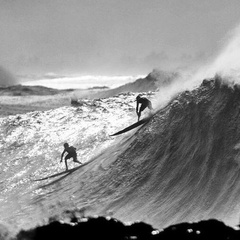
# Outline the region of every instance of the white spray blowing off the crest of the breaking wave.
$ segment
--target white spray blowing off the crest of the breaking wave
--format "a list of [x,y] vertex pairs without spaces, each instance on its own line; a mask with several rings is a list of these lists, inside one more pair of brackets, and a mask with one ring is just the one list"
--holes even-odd
[[203,79],[222,76],[225,81],[240,83],[240,25],[226,36],[219,54],[207,64],[201,66],[195,73],[185,73],[168,86],[159,89],[155,99],[157,108],[165,106],[170,99],[185,90],[197,88]]

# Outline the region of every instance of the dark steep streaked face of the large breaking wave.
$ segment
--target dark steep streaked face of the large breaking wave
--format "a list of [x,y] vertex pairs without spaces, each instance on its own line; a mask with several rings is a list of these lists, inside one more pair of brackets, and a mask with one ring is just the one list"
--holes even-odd
[[239,104],[239,87],[220,79],[180,94],[102,176],[117,195],[106,210],[158,227],[208,218],[238,224]]

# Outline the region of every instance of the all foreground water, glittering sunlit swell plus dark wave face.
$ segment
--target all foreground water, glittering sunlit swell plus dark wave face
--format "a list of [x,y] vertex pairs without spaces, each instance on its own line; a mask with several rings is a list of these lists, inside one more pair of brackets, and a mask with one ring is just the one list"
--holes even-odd
[[[159,105],[145,125],[110,137],[136,122],[134,100],[127,93],[1,118],[1,223],[27,229],[73,210],[158,229],[209,218],[236,226],[239,86],[204,81]],[[69,161],[69,172],[59,162],[64,142],[83,163]]]

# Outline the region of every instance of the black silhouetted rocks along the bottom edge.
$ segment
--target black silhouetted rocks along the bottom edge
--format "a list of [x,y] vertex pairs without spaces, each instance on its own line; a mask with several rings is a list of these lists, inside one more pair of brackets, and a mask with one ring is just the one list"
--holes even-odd
[[31,230],[20,231],[17,240],[50,240],[50,239],[104,239],[104,240],[237,240],[240,230],[226,226],[216,219],[204,220],[196,223],[180,223],[163,230],[154,229],[144,222],[125,225],[114,218],[83,218],[73,217],[70,223],[51,221],[45,226]]

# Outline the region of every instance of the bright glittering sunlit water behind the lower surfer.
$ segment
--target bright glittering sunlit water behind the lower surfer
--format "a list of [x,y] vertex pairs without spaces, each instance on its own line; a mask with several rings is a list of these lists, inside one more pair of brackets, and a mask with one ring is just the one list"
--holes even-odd
[[[129,93],[108,99],[84,100],[78,107],[1,118],[1,222],[14,228],[30,227],[55,214],[55,204],[63,204],[62,210],[78,207],[75,203],[72,205],[74,194],[66,193],[63,202],[56,199],[58,203],[49,201],[49,209],[42,208],[38,199],[45,195],[46,188],[41,186],[49,184],[50,190],[54,187],[51,180],[57,183],[60,179],[67,180],[68,175],[74,175],[74,172],[61,175],[65,171],[64,162],[60,163],[65,142],[77,148],[78,159],[83,164],[90,163],[112,146],[117,139],[109,135],[137,120],[135,95]],[[78,164],[69,161],[70,169],[76,166]],[[58,173],[57,178],[38,181]],[[33,205],[30,203],[32,200],[35,202]],[[50,210],[52,207],[53,211]]]

